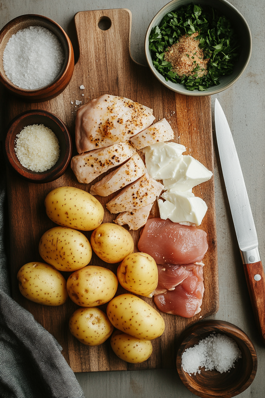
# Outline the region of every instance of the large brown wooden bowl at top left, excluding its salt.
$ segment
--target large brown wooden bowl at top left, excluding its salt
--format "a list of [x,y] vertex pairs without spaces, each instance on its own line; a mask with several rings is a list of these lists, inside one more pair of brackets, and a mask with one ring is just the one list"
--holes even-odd
[[[15,86],[6,76],[3,66],[3,53],[12,35],[29,26],[42,26],[54,33],[64,49],[65,60],[60,74],[56,79],[37,90],[25,90]],[[72,43],[65,31],[56,22],[41,15],[21,15],[8,22],[0,31],[0,82],[16,96],[28,102],[43,102],[57,97],[70,83],[74,73],[74,51]]]

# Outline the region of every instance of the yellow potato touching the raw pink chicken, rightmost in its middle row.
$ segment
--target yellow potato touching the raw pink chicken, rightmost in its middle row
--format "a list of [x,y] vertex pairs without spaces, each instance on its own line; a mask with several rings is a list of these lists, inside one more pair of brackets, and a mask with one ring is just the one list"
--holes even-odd
[[146,253],[129,254],[118,266],[117,277],[129,292],[152,297],[158,283],[157,263]]

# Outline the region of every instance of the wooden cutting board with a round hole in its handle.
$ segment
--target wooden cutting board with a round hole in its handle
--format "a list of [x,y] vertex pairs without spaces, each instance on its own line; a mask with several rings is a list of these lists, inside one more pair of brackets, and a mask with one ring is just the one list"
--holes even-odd
[[[101,30],[98,23],[106,18],[111,20],[111,27],[108,30]],[[130,11],[119,9],[79,12],[75,15],[75,24],[80,58],[75,65],[74,76],[69,86],[54,100],[39,104],[24,103],[10,96],[7,100],[6,124],[28,109],[45,109],[66,123],[74,142],[75,114],[78,109],[75,100],[82,101],[83,104],[106,93],[124,96],[153,108],[157,120],[165,117],[175,132],[175,142],[186,146],[185,154],[195,157],[213,171],[211,98],[175,94],[160,84],[149,68],[131,59]],[[84,90],[79,88],[82,84]],[[68,319],[77,309],[77,305],[71,300],[59,307],[48,307],[25,299],[19,292],[17,271],[27,262],[42,261],[38,252],[39,240],[46,230],[55,226],[46,216],[44,198],[52,189],[65,185],[89,191],[91,184],[78,183],[70,167],[64,176],[46,184],[29,183],[8,170],[10,271],[14,299],[27,308],[35,319],[55,336],[63,347],[62,354],[75,372],[174,367],[176,339],[180,333],[191,323],[217,312],[219,306],[213,177],[193,189],[195,195],[201,197],[208,205],[207,214],[200,226],[207,232],[209,243],[209,250],[204,260],[205,294],[201,312],[190,319],[162,314],[166,324],[165,332],[152,342],[151,357],[137,365],[126,363],[116,357],[109,341],[99,347],[87,347],[79,343],[68,329]],[[110,197],[97,198],[103,206],[110,200]],[[159,211],[155,204],[150,217],[158,216]],[[111,222],[115,217],[105,210],[103,222]],[[85,232],[85,234],[90,237],[90,233]],[[132,236],[137,251],[139,230],[133,231]],[[106,266],[114,272],[117,269],[117,265],[106,264],[95,255],[91,264]],[[66,278],[68,275],[69,273],[65,273]],[[117,294],[121,293],[126,291],[119,287]],[[145,298],[145,300],[154,306],[152,299]],[[106,310],[106,304],[101,308]]]

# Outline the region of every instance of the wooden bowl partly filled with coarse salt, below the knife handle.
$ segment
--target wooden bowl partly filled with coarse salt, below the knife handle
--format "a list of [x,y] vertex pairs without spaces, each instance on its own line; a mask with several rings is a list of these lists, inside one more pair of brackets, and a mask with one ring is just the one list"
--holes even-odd
[[253,382],[257,372],[255,347],[237,326],[205,320],[186,329],[178,342],[178,374],[193,394],[230,398]]

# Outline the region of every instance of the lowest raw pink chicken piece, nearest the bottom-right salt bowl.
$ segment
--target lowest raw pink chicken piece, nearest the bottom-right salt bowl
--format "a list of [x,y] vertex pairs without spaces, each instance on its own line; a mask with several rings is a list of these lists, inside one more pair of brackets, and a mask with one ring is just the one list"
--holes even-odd
[[203,265],[189,264],[186,266],[188,277],[172,291],[154,297],[157,308],[167,314],[191,318],[201,311],[204,293]]

